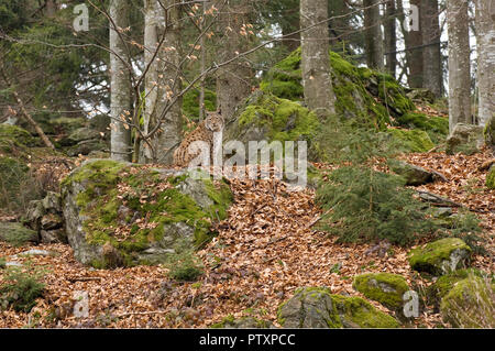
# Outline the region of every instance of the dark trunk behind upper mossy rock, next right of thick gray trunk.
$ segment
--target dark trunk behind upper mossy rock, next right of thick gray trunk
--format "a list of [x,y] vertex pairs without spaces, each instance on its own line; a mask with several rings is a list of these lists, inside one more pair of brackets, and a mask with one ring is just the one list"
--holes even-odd
[[384,68],[382,20],[380,17],[380,0],[363,0],[364,6],[364,44],[366,64],[371,68]]

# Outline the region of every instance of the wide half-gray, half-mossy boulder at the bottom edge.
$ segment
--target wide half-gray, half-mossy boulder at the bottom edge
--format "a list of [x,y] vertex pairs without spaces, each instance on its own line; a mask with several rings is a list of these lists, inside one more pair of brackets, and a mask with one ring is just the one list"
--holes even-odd
[[397,320],[361,297],[334,295],[324,287],[296,290],[278,307],[285,328],[397,328]]

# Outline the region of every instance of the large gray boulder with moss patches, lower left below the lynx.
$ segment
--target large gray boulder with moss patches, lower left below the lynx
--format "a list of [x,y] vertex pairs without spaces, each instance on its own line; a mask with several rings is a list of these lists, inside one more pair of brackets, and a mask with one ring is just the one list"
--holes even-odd
[[[100,219],[95,218],[95,216],[100,216],[100,212],[92,213],[91,210],[100,208],[98,206],[105,206],[109,201],[116,204],[116,209],[107,212],[109,213],[107,215],[108,220],[113,223],[112,226],[116,222],[118,226],[130,228],[138,220],[140,220],[140,223],[150,220],[150,218],[146,219],[144,217],[144,212],[140,212],[139,206],[135,207],[136,205],[133,205],[134,207],[131,208],[127,202],[128,199],[116,198],[114,191],[111,191],[121,182],[122,177],[124,177],[122,172],[129,169],[131,166],[129,163],[119,163],[110,160],[92,160],[85,162],[79,168],[74,169],[62,183],[62,202],[67,240],[74,249],[76,260],[82,264],[108,267],[110,265],[161,263],[169,257],[170,254],[176,253],[177,248],[194,249],[198,244],[198,240],[201,240],[201,238],[202,240],[206,239],[204,232],[205,223],[201,223],[202,227],[200,227],[197,222],[204,220],[204,215],[200,209],[205,213],[210,213],[209,207],[215,204],[213,198],[210,197],[211,188],[207,188],[204,179],[194,179],[190,177],[186,171],[170,172],[162,169],[153,176],[150,173],[145,173],[142,176],[155,177],[155,179],[163,178],[164,180],[169,176],[174,176],[175,180],[174,183],[169,183],[169,186],[182,194],[182,196],[177,195],[177,198],[167,198],[166,200],[170,201],[170,204],[174,204],[174,201],[183,201],[177,204],[177,207],[184,207],[184,212],[170,215],[163,210],[163,205],[155,202],[155,206],[162,206],[161,211],[163,211],[163,217],[169,220],[163,221],[156,216],[152,218],[151,220],[154,222],[150,224],[155,224],[151,227],[151,230],[153,230],[152,233],[146,232],[138,235],[138,233],[143,233],[142,231],[140,232],[142,229],[134,227],[133,233],[125,239],[125,245],[122,242],[116,244],[116,241],[111,239],[112,228],[103,227],[107,238],[103,237],[106,239],[101,239],[100,234],[98,240],[92,240],[91,223]],[[154,171],[156,169],[148,172]],[[143,194],[146,191],[146,196],[150,194],[148,191],[155,191],[153,182],[151,182],[147,188],[146,186],[136,188],[136,191],[143,191]],[[81,205],[79,195],[84,195],[82,197],[86,199],[86,204]],[[140,199],[139,194],[134,194],[132,197],[134,201]],[[101,202],[100,200],[103,198],[105,202]],[[218,206],[218,204],[216,205]],[[188,211],[191,211],[190,213],[193,215],[188,215]],[[133,235],[138,235],[139,238]],[[138,240],[139,243],[136,243]]]

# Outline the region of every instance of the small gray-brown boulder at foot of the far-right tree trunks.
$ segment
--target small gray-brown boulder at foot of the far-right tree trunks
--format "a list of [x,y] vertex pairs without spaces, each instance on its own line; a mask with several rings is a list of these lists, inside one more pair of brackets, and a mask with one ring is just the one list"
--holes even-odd
[[483,127],[458,123],[447,138],[446,153],[448,155],[455,153],[471,155],[476,153],[483,144]]

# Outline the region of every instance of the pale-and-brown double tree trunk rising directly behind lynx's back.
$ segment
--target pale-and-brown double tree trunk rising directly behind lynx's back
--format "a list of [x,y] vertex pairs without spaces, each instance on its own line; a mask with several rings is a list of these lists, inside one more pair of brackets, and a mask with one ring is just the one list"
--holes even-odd
[[[168,10],[165,11],[160,2]],[[180,6],[174,3],[179,3],[179,0],[145,1],[144,62],[146,66],[151,64],[144,80],[144,134],[157,130],[150,140],[152,150],[142,143],[142,161],[146,163],[172,164],[173,151],[179,145],[183,135],[182,98],[163,114],[182,90],[182,75],[176,68],[180,63],[182,10]]]

